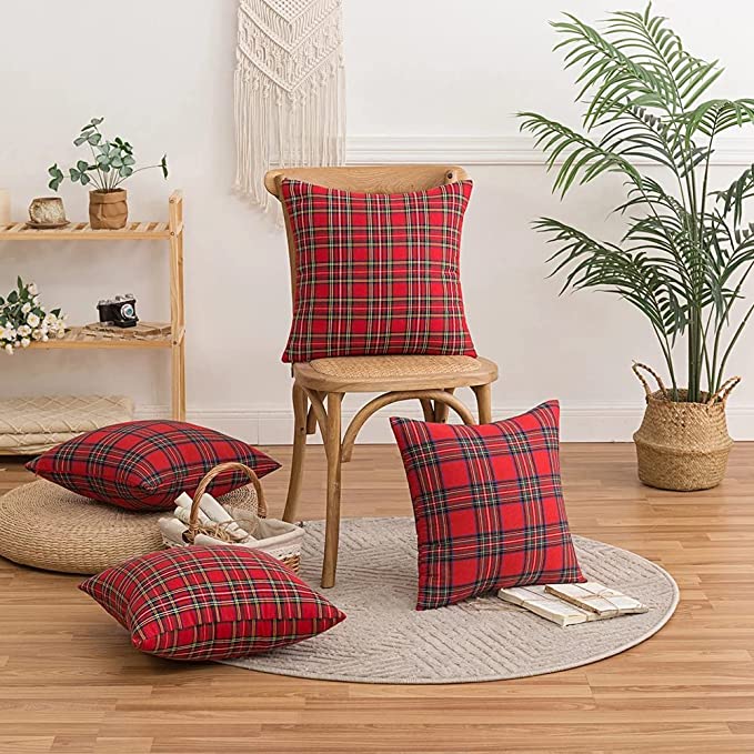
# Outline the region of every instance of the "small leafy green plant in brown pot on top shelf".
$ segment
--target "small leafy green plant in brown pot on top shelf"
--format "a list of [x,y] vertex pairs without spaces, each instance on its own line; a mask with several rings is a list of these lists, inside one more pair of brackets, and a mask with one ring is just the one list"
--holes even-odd
[[[68,169],[68,178],[73,183],[93,185],[89,192],[89,222],[97,230],[118,230],[128,220],[128,195],[121,185],[131,175],[142,170],[160,169],[162,177],[168,178],[168,155],[163,154],[159,163],[137,168],[133,147],[120,137],[112,141],[105,139],[100,131],[103,118],[92,118],[73,140],[76,147],[84,147],[91,158],[78,160],[76,167]],[[66,179],[63,171],[56,162],[48,170],[49,187],[57,191]]]

